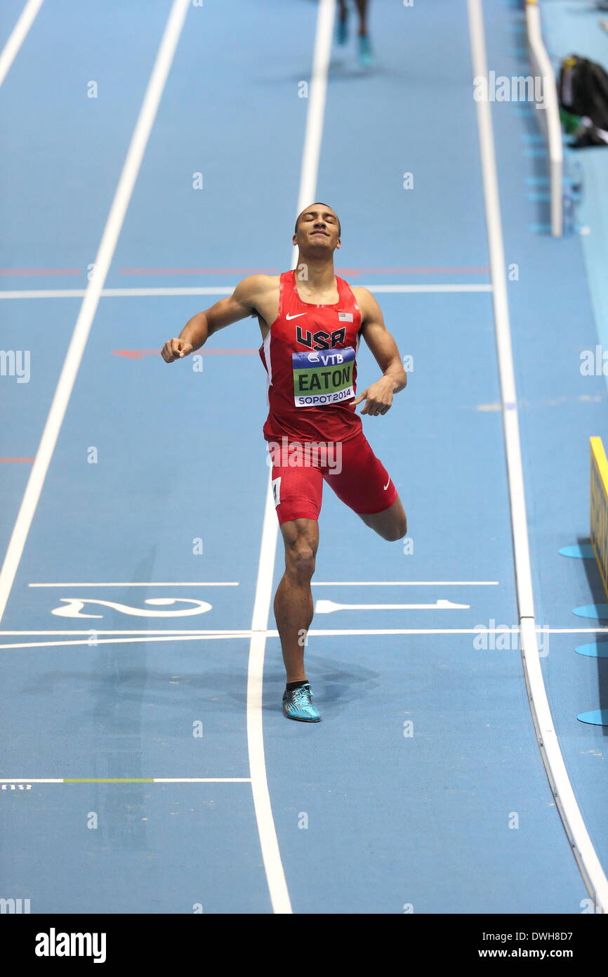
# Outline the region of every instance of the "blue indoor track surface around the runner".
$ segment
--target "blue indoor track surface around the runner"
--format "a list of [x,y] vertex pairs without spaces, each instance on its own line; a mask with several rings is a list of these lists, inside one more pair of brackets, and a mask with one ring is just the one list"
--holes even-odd
[[[23,2],[2,5],[0,47]],[[332,46],[316,174],[312,84],[300,97],[312,0],[45,0],[22,41],[0,87],[0,345],[30,354],[27,382],[0,376],[0,896],[32,913],[576,914],[588,900],[522,665],[477,2],[372,0],[375,66],[353,38]],[[519,5],[481,6],[489,66],[527,73]],[[578,717],[608,708],[608,661],[577,648],[608,620],[573,614],[606,595],[593,559],[559,552],[588,545],[588,438],[608,439],[605,379],[579,368],[601,301],[588,241],[542,230],[547,162],[522,107],[491,117],[518,269],[532,589],[557,742],[606,871],[608,727]],[[280,707],[258,323],[197,360],[158,355],[243,276],[291,267],[303,186],[341,217],[338,274],[375,292],[412,358],[390,412],[363,418],[407,539],[385,542],[324,490],[316,725]],[[359,389],[378,375],[362,343]]]

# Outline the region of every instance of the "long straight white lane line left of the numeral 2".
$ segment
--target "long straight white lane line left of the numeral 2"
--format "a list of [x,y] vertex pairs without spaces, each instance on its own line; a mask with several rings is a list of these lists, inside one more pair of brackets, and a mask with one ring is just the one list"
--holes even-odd
[[61,424],[74,386],[76,374],[82,360],[89,332],[100,302],[101,289],[107,276],[114,250],[120,235],[127,207],[135,187],[143,153],[154,124],[156,112],[163,94],[165,82],[173,62],[175,51],[182,33],[183,22],[190,0],[174,0],[165,27],[154,67],[143,97],[142,108],[137,121],[131,145],[127,152],[118,187],[112,200],[107,222],[101,236],[100,248],[95,259],[95,275],[86,290],[80,313],[67,355],[61,369],[61,376],[47,417],[36,460],[32,465],[29,480],[23,494],[19,515],[11,541],[7,549],[2,571],[0,571],[0,620],[4,615],[15,574],[20,565],[21,554],[27,539],[38,499],[53,457],[53,452],[61,431]]

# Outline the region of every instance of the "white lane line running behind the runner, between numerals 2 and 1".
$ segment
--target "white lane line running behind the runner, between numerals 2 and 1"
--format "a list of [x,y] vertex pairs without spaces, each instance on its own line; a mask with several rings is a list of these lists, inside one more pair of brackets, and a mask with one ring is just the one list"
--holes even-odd
[[[316,180],[321,151],[323,116],[327,94],[327,75],[329,70],[332,32],[334,26],[335,0],[320,0],[312,58],[304,151],[300,173],[300,192],[298,210],[312,203],[316,192]],[[297,248],[292,253],[292,268],[296,267]],[[266,498],[263,511],[262,544],[260,564],[256,584],[256,601],[252,617],[252,630],[257,631],[249,646],[249,669],[247,681],[247,742],[249,763],[256,808],[256,818],[260,832],[263,865],[268,882],[270,901],[274,913],[292,913],[291,900],[281,863],[276,828],[272,817],[272,806],[268,792],[265,758],[263,753],[263,658],[266,642],[266,628],[272,598],[272,576],[278,524],[274,511],[271,489],[271,472],[268,471]]]

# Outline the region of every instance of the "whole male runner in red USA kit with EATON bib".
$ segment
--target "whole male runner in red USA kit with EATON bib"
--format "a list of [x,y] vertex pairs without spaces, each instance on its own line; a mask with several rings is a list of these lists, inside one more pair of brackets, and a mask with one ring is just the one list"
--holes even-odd
[[[199,312],[169,339],[165,362],[200,349],[224,326],[257,317],[267,373],[268,416],[263,426],[272,458],[272,490],[285,543],[285,573],[274,598],[287,686],[283,713],[315,723],[304,671],[304,637],[312,621],[310,580],[319,541],[323,481],[384,539],[401,539],[407,524],[390,478],[363,435],[362,414],[377,417],[403,390],[407,375],[374,296],[334,274],[341,226],[324,203],[296,221],[296,271],[252,275],[229,298]],[[355,356],[363,336],[383,375],[355,400]]]

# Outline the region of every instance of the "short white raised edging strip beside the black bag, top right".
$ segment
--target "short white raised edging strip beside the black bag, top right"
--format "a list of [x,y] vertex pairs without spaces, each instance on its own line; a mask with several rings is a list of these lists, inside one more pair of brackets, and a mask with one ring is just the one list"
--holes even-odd
[[[528,44],[532,54],[532,68],[534,71],[539,70],[543,76],[543,103],[540,107],[537,106],[537,108],[541,112],[539,122],[541,123],[541,128],[545,129],[548,143],[551,234],[553,237],[561,237],[563,234],[563,149],[561,122],[559,119],[555,72],[553,71],[553,65],[550,62],[547,48],[543,41],[541,10],[538,0],[527,0],[526,26],[528,30]],[[544,121],[546,123],[545,125],[543,125]]]

